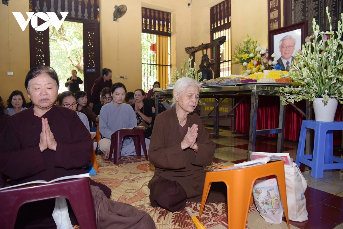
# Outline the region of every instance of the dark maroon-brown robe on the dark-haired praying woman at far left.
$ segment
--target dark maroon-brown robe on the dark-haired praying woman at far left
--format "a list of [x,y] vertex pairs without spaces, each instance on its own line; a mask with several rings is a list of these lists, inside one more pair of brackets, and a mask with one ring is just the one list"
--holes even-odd
[[[42,116],[48,119],[57,148],[56,152],[50,149],[40,152],[42,119],[34,115],[33,108],[11,116],[1,133],[0,171],[12,179],[12,185],[85,173],[82,166],[91,158],[93,140],[76,112],[53,106]],[[56,228],[51,216],[54,207],[55,199],[24,204],[15,228]],[[71,222],[77,224],[70,205],[69,215]]]

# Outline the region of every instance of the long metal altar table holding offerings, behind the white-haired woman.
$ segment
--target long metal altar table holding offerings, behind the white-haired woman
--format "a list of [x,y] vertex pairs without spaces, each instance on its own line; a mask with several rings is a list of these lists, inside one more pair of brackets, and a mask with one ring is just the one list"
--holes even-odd
[[[283,138],[284,138],[284,126],[285,126],[285,106],[280,101],[279,112],[279,127],[276,129],[256,130],[257,124],[257,105],[259,96],[273,95],[278,96],[276,87],[284,86],[284,84],[245,84],[237,86],[225,86],[225,87],[210,87],[202,88],[199,90],[200,98],[215,98],[214,106],[214,124],[213,124],[213,136],[219,135],[219,107],[221,101],[225,98],[235,98],[242,95],[251,95],[251,112],[250,112],[250,130],[249,130],[249,151],[255,151],[255,140],[257,135],[264,134],[277,134],[277,149],[276,153],[282,153]],[[158,99],[167,97],[170,98],[173,95],[173,91],[159,91],[155,92],[155,112],[158,115]],[[212,112],[212,111],[211,111]]]

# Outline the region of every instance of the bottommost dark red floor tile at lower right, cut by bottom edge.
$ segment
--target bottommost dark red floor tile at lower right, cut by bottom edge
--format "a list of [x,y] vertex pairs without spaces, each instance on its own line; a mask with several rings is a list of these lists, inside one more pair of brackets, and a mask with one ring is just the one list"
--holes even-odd
[[304,222],[295,222],[289,220],[289,224],[300,229],[333,229],[337,226],[337,224],[335,224],[334,222],[331,222],[329,220],[320,218],[312,214],[308,214],[308,220]]

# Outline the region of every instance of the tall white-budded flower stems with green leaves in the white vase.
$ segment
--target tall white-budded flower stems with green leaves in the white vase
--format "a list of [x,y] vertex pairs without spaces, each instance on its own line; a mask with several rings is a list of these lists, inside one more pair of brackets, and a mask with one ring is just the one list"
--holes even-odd
[[283,105],[303,99],[313,101],[315,98],[323,98],[324,104],[328,103],[329,98],[336,98],[343,104],[343,13],[336,32],[332,31],[328,7],[326,13],[330,31],[320,32],[319,25],[313,19],[314,34],[306,39],[302,50],[296,51],[289,69],[289,77],[299,86],[279,88]]

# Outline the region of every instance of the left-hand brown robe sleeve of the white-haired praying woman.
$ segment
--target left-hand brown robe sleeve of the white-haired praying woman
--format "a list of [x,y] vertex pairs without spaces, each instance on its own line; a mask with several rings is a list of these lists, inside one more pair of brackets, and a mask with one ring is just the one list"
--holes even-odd
[[[168,120],[157,116],[151,134],[149,146],[149,161],[161,169],[182,169],[186,167],[185,154],[181,149],[181,141],[168,146],[165,138],[170,137]],[[177,126],[178,128],[178,126]]]

